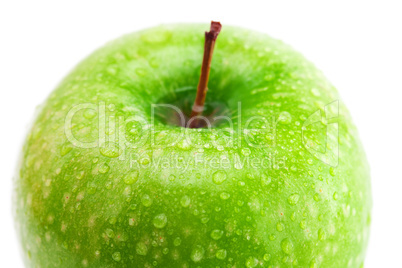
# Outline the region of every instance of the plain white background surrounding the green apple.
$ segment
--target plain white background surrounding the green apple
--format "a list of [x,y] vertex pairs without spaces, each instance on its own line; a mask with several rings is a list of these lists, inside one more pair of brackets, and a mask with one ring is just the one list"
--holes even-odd
[[161,23],[213,19],[284,40],[339,89],[371,164],[374,211],[365,267],[397,267],[402,254],[401,14],[398,1],[384,0],[2,1],[1,266],[22,267],[11,182],[35,107],[108,40]]

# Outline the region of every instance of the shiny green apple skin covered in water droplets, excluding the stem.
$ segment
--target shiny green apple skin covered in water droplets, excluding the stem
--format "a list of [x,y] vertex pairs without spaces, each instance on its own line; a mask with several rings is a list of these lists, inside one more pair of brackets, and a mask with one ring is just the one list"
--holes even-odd
[[[326,134],[326,120],[306,126],[339,96],[282,42],[224,26],[208,98],[233,114],[241,101],[234,137],[227,125],[187,129],[190,143],[178,140],[183,128],[155,120],[151,144],[151,104],[195,88],[206,29],[166,25],[117,39],[40,107],[15,176],[27,267],[363,266],[372,200],[357,130],[342,102],[337,131]],[[247,121],[256,115],[273,121]],[[306,137],[323,152],[338,141],[338,161],[313,156]],[[267,158],[269,167],[239,165]],[[151,165],[161,159],[190,164]]]

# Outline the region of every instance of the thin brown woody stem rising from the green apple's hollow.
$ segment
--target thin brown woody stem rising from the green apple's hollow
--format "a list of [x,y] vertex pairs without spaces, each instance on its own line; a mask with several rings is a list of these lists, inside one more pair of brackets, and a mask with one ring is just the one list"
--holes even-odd
[[208,90],[208,79],[211,71],[212,54],[214,53],[216,38],[218,37],[221,29],[222,25],[220,22],[212,21],[210,31],[205,32],[204,58],[202,60],[200,81],[198,82],[197,87],[197,96],[195,97],[190,116],[190,128],[199,127],[199,116],[202,115],[204,110],[205,97]]

